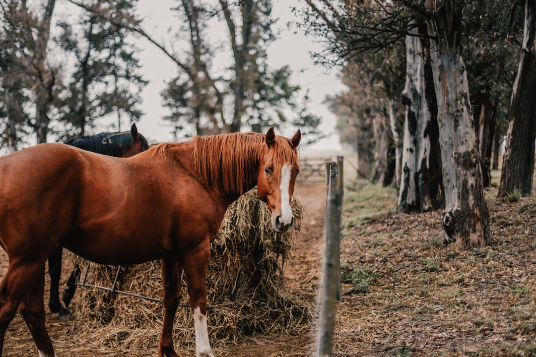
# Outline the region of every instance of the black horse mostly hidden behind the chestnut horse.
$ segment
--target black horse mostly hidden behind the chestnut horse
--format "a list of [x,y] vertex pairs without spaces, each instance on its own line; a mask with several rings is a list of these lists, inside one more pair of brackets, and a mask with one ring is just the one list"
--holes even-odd
[[[68,145],[93,153],[115,156],[131,157],[149,148],[147,140],[138,133],[136,124],[132,124],[128,132],[100,133],[81,138],[72,139]],[[48,274],[50,275],[50,300],[48,307],[53,313],[58,313],[61,320],[71,320],[73,316],[67,309],[75,295],[76,282],[80,276],[80,268],[75,267],[67,280],[67,288],[62,294],[65,307],[59,301],[59,278],[62,271],[63,247],[58,247],[48,259]]]

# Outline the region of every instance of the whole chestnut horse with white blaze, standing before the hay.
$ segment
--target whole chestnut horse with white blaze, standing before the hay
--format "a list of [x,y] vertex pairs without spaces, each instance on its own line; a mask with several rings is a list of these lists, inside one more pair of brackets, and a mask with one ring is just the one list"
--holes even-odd
[[272,227],[287,231],[299,171],[297,146],[276,136],[226,134],[153,146],[130,158],[41,144],[0,158],[0,354],[17,308],[40,357],[53,357],[44,325],[44,263],[58,246],[113,265],[161,259],[164,316],[159,356],[177,357],[173,320],[184,270],[196,356],[213,357],[206,324],[210,242],[230,203],[257,185]]

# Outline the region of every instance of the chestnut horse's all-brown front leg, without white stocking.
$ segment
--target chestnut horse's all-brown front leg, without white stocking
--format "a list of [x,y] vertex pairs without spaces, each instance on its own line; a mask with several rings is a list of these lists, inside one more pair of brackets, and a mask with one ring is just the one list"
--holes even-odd
[[162,333],[158,343],[159,357],[178,357],[173,348],[173,321],[178,307],[178,297],[181,292],[177,284],[177,275],[181,267],[173,259],[162,259],[162,283],[164,285],[164,320]]

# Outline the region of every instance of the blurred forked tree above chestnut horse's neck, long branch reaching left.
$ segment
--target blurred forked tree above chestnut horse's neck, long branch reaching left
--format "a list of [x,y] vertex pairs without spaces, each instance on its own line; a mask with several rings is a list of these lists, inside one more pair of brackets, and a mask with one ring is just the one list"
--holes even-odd
[[[69,1],[95,16],[110,18],[109,13]],[[177,77],[162,92],[170,109],[165,119],[174,123],[175,134],[227,133],[244,125],[260,131],[284,124],[287,108],[299,115],[293,124],[308,125],[304,134],[319,135],[321,119],[296,104],[300,88],[291,84],[288,67],[271,70],[267,66],[266,46],[274,39],[270,1],[181,0],[172,10],[182,19],[180,34],[173,37],[174,42],[185,44],[181,51],[153,39],[135,17],[114,14],[111,21],[144,36],[177,65]],[[207,28],[221,24],[228,41],[210,42]],[[223,71],[213,65],[221,49],[232,58]]]

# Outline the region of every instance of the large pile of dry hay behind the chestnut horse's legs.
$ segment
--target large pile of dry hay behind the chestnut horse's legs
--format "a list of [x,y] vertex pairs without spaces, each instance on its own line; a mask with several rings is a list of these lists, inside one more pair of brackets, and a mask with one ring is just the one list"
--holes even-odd
[[[299,199],[292,199],[292,209],[293,229],[276,234],[270,211],[255,189],[228,208],[211,244],[207,274],[209,336],[215,347],[244,335],[296,333],[310,325],[310,302],[288,292],[284,284],[282,265],[291,257],[293,239],[300,230],[303,207]],[[75,264],[86,267],[87,261],[76,258]],[[116,270],[91,263],[86,283],[111,287]],[[116,290],[162,299],[160,262],[122,267]],[[88,339],[121,349],[158,344],[162,303],[93,287],[79,287],[77,295],[72,310],[81,318],[81,333],[88,334]],[[184,283],[180,303],[184,308],[177,311],[174,337],[191,348],[195,344],[193,318]]]

